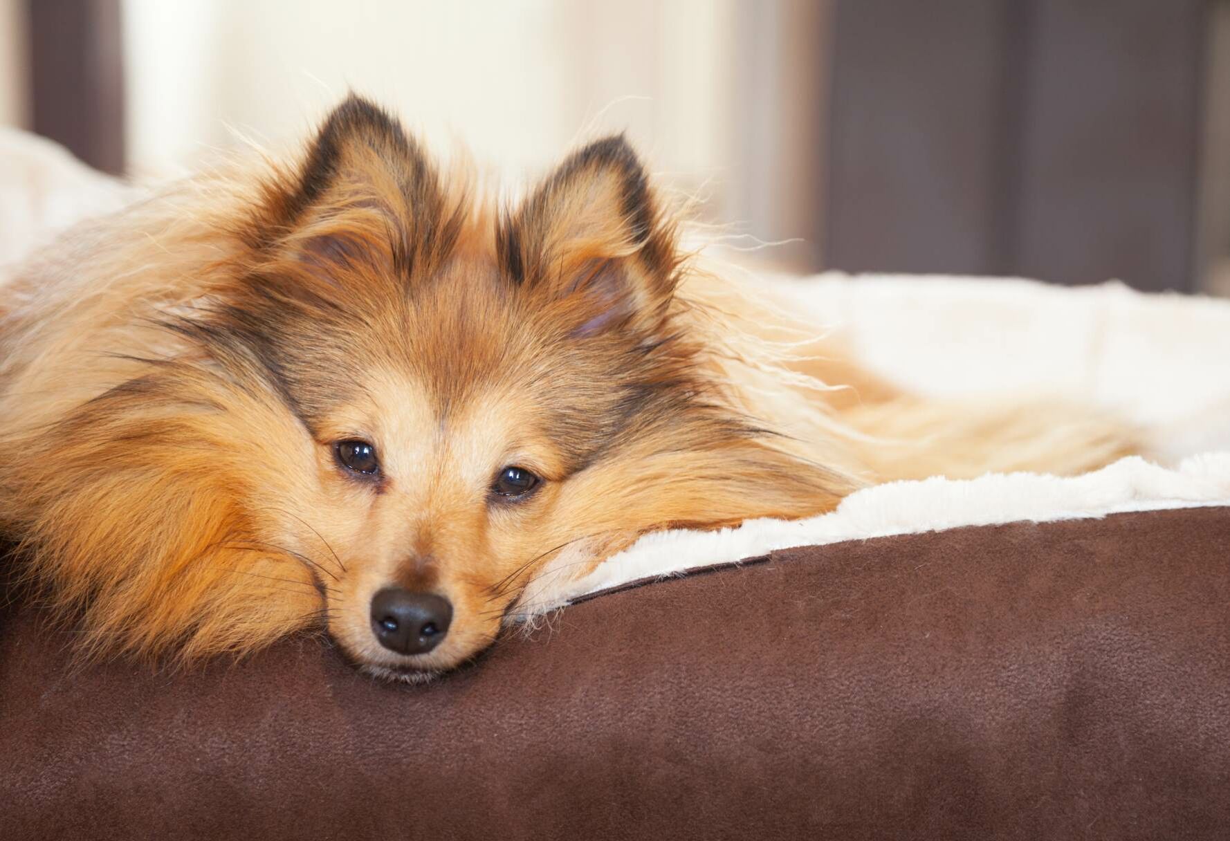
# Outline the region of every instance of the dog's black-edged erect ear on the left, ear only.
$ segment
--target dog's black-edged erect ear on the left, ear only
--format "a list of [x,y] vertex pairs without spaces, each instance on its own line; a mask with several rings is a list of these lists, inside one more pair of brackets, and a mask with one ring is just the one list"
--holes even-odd
[[395,118],[353,93],[263,199],[253,245],[314,268],[365,261],[406,269],[449,245],[435,168]]

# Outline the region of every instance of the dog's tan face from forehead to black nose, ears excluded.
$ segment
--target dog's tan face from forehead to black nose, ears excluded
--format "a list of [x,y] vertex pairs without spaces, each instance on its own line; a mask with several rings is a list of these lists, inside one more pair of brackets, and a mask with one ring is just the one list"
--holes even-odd
[[[278,461],[299,475],[258,507],[288,509],[266,518],[268,542],[312,559],[353,659],[381,674],[455,665],[514,601],[534,606],[525,588],[545,563],[585,572],[670,516],[645,497],[678,440],[653,427],[680,407],[632,381],[622,338],[578,333],[578,317],[593,315],[552,311],[496,258],[460,257],[348,333],[283,327],[304,433]],[[301,355],[309,336],[333,353]]]

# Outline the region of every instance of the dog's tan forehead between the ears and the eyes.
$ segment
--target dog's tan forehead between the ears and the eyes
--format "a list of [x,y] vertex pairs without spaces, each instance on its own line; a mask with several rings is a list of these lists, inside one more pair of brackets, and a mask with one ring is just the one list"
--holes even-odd
[[494,263],[454,261],[407,293],[399,317],[363,322],[367,375],[342,397],[401,452],[423,464],[467,454],[486,470],[497,450],[535,441],[566,475],[610,445],[636,395]]

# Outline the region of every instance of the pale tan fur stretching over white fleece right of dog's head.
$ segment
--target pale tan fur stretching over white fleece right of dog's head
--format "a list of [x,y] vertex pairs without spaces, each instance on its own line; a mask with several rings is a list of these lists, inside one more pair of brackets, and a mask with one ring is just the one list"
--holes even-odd
[[[700,262],[700,261],[699,261]],[[747,411],[802,439],[823,460],[867,484],[929,476],[972,478],[1032,471],[1073,476],[1140,454],[1143,436],[1122,419],[1048,395],[924,398],[861,368],[840,332],[817,338],[784,301],[755,298],[712,263],[683,289],[723,314],[747,370],[732,370]],[[742,368],[742,366],[740,366]]]

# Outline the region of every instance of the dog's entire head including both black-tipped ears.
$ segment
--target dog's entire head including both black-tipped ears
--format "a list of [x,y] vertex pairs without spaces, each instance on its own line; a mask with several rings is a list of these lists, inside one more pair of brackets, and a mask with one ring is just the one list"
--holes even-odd
[[285,478],[247,507],[383,674],[485,648],[545,564],[583,573],[648,527],[712,521],[713,466],[689,486],[683,462],[737,472],[752,436],[678,332],[674,232],[621,138],[502,216],[460,193],[351,101],[268,187],[225,304],[187,327],[296,419]]

